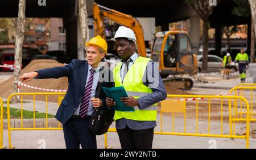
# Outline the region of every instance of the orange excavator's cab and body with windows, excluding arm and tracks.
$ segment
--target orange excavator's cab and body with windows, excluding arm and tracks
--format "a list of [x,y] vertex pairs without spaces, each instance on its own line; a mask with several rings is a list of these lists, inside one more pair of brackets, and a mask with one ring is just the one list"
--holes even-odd
[[151,59],[159,63],[162,77],[197,73],[197,59],[193,55],[188,34],[182,31],[158,32],[155,35]]

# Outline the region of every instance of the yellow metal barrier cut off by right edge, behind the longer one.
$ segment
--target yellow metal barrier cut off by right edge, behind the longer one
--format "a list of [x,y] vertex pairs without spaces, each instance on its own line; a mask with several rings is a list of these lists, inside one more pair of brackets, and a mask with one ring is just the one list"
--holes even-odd
[[[255,109],[255,103],[253,103],[256,100],[256,84],[238,84],[237,86],[249,86],[249,87],[234,87],[229,90],[229,93],[234,94],[234,96],[241,96],[243,98],[246,98],[246,100],[249,101],[250,105],[250,121],[256,121],[255,115],[256,115],[256,109]],[[254,86],[254,87],[253,87]],[[240,108],[237,107],[237,105],[240,104]],[[240,117],[240,120],[246,120],[243,115],[246,114],[246,105],[241,100],[240,102],[235,102],[234,107],[236,108],[236,118]],[[239,110],[238,110],[239,109]]]

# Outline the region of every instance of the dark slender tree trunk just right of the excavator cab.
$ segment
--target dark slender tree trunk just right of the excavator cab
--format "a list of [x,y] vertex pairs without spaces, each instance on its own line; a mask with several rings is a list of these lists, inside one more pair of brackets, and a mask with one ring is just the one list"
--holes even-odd
[[208,44],[209,44],[209,39],[208,39],[208,21],[203,21],[203,33],[204,33],[204,52],[203,52],[203,66],[202,66],[202,73],[207,72],[207,66],[208,66]]

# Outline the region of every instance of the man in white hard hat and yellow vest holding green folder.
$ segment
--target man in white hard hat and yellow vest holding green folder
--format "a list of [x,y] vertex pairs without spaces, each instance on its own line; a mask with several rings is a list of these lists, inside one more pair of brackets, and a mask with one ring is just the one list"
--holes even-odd
[[[130,28],[119,27],[114,38],[122,59],[113,70],[115,87],[123,86],[129,97],[121,101],[135,111],[115,111],[115,124],[122,148],[152,148],[156,126],[156,103],[167,97],[158,65],[136,53],[136,37]],[[106,105],[116,103],[106,98]]]

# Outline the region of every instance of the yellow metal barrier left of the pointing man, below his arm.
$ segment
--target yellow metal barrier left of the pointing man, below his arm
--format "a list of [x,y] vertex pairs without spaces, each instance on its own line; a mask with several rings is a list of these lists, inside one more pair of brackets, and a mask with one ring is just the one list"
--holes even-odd
[[[43,95],[46,96],[46,127],[38,128],[35,125],[35,96]],[[11,145],[11,131],[19,131],[19,130],[62,130],[60,127],[60,122],[58,123],[58,127],[49,127],[48,126],[48,96],[58,96],[58,103],[60,105],[63,97],[61,95],[65,95],[65,93],[13,93],[7,99],[7,122],[8,122],[8,137],[9,137],[9,148],[14,148]],[[11,127],[10,126],[10,100],[13,96],[20,96],[20,127]],[[33,127],[25,128],[23,127],[23,96],[33,96]]]

